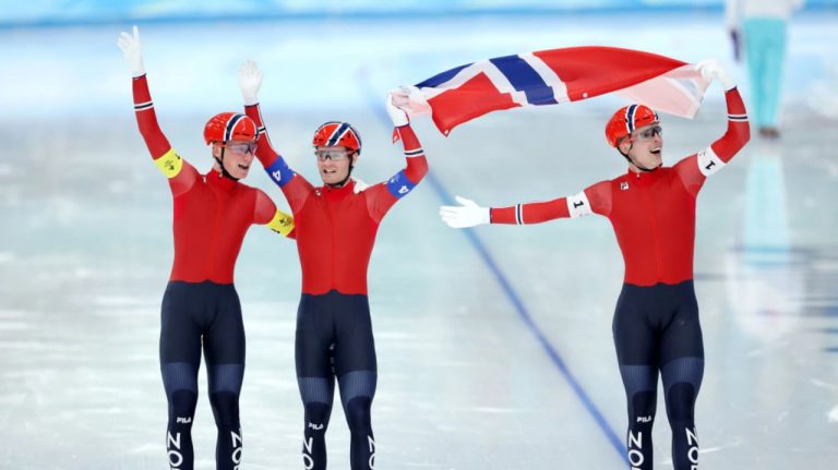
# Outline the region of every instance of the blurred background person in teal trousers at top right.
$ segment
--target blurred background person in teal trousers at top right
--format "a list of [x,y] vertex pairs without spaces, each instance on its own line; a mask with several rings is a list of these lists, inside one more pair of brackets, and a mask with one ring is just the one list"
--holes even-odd
[[733,57],[744,56],[751,82],[753,119],[759,135],[780,136],[778,115],[782,91],[788,23],[803,0],[726,0],[725,16]]

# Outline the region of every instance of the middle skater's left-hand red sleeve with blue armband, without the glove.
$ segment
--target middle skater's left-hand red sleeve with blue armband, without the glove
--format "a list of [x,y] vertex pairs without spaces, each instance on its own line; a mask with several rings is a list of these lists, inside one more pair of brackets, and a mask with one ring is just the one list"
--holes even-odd
[[297,174],[285,158],[274,150],[271,145],[271,140],[267,136],[267,130],[265,129],[264,121],[262,120],[262,111],[259,105],[246,106],[244,112],[249,118],[255,121],[259,129],[256,158],[262,162],[267,176],[283,190],[285,198],[288,200],[288,205],[291,207],[291,212],[297,214],[309,194],[313,191],[313,186],[304,178]]

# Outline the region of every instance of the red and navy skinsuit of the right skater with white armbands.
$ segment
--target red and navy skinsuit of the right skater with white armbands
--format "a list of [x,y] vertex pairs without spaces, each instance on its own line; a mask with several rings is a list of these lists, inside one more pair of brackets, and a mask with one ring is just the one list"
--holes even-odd
[[673,167],[626,174],[558,200],[492,208],[492,224],[539,224],[599,214],[608,217],[625,262],[613,335],[628,401],[632,468],[651,469],[658,373],[663,379],[678,470],[697,466],[695,398],[704,346],[693,289],[695,202],[708,176],[745,145],[750,129],[737,88],[726,93],[728,129],[705,150]]

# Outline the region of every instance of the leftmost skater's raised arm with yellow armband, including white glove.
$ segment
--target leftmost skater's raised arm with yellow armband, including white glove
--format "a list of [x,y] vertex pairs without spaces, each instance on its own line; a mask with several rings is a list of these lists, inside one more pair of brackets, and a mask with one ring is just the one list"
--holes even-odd
[[197,171],[171,148],[169,141],[163,134],[157,123],[157,115],[154,112],[152,94],[148,91],[148,82],[143,65],[143,53],[140,48],[140,31],[134,26],[133,34],[122,33],[117,39],[117,46],[122,49],[125,62],[133,76],[132,88],[134,98],[134,113],[140,133],[152,154],[157,168],[169,179],[169,188],[173,195],[189,190],[197,179]]

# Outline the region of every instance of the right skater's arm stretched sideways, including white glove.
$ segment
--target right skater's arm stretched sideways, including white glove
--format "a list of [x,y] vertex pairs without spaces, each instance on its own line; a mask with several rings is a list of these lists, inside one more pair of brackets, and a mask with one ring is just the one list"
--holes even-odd
[[508,207],[480,207],[474,201],[456,197],[459,206],[440,207],[442,220],[453,228],[484,224],[541,224],[589,214],[608,217],[611,213],[611,182],[601,181],[572,196],[552,201],[516,204]]

